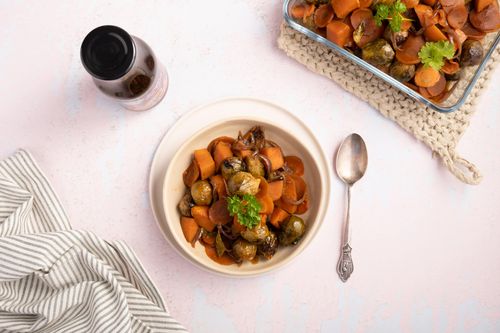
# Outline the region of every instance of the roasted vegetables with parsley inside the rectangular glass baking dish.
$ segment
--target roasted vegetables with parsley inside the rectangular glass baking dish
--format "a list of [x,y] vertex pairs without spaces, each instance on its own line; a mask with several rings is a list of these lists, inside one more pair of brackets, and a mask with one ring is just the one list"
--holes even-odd
[[433,102],[478,65],[500,30],[498,0],[298,0],[291,17]]

